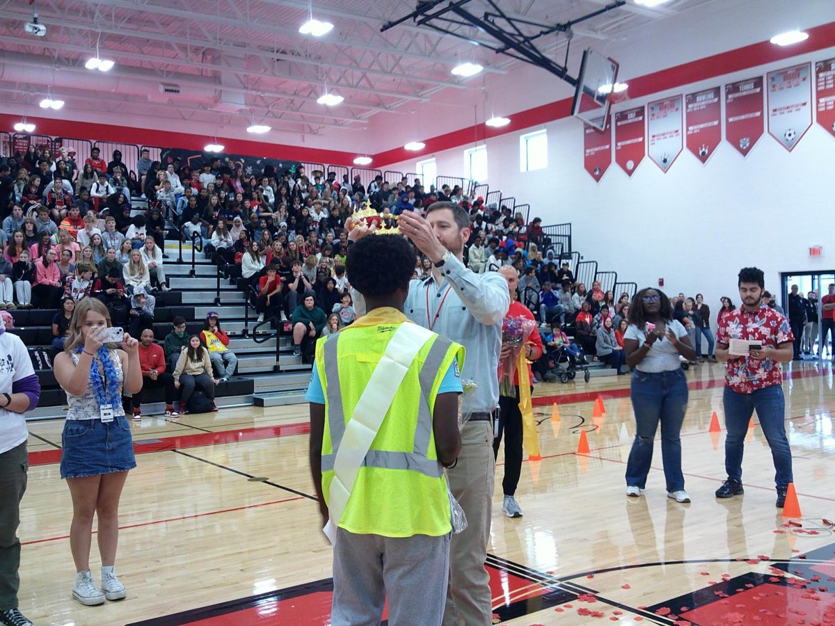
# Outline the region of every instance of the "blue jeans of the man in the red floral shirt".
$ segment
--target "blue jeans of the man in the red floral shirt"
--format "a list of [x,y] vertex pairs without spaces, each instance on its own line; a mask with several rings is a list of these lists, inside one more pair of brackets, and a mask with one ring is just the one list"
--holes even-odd
[[728,478],[742,481],[742,450],[748,423],[751,415],[757,409],[762,433],[766,436],[768,446],[772,449],[774,460],[774,482],[777,487],[786,487],[792,478],[792,448],[786,437],[786,400],[783,397],[782,386],[772,385],[757,389],[751,393],[739,393],[725,387],[722,395],[725,405],[725,471]]

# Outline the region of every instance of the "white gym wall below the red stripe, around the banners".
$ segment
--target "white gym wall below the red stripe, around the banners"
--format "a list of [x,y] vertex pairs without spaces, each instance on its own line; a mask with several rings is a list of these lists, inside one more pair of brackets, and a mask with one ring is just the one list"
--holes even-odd
[[[833,56],[835,48],[614,110]],[[549,167],[539,171],[519,172],[519,134],[488,140],[490,189],[531,204],[531,216],[539,215],[546,225],[571,222],[574,250],[597,260],[599,270],[616,270],[619,280],[642,287],[663,278],[666,293],[701,292],[716,311],[721,295],[738,303],[736,273],[743,266],[764,270],[767,289],[777,292],[781,271],[835,269],[835,139],[817,124],[792,153],[763,134],[746,159],[723,142],[706,165],[685,149],[667,174],[645,157],[630,179],[613,162],[600,184],[583,169],[579,121],[562,119],[545,128]],[[467,147],[435,154],[438,174],[461,174]],[[415,171],[415,161],[385,169]],[[817,244],[827,256],[810,259],[808,246]]]

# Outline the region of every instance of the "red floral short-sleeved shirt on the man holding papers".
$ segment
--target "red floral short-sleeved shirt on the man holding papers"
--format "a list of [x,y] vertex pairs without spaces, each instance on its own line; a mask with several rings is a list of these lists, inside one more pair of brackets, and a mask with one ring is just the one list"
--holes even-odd
[[[722,317],[716,330],[716,341],[728,344],[731,339],[762,341],[762,346],[776,348],[794,341],[792,327],[785,316],[770,306],[762,305],[753,313],[740,306]],[[782,385],[780,364],[772,359],[739,356],[725,363],[725,385],[738,393],[751,393],[763,387]]]

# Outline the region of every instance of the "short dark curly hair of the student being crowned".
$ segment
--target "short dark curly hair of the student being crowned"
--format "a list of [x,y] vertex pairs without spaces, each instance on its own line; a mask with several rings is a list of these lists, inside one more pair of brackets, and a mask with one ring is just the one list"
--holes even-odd
[[382,297],[408,287],[415,255],[400,235],[372,235],[348,248],[345,266],[354,289],[365,296]]

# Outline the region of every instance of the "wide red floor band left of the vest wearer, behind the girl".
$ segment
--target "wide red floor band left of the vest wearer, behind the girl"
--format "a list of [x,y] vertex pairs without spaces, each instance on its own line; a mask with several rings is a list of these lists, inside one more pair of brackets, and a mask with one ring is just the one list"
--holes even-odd
[[[230,431],[198,432],[193,435],[175,435],[175,437],[158,437],[158,442],[144,443],[134,441],[134,453],[160,452],[163,450],[183,450],[189,447],[215,446],[220,443],[251,442],[273,437],[291,437],[305,435],[311,432],[310,422],[282,424],[281,426],[263,426],[252,428],[236,428]],[[49,465],[61,462],[60,450],[38,450],[29,452],[29,467]]]

